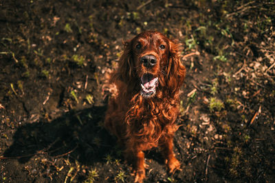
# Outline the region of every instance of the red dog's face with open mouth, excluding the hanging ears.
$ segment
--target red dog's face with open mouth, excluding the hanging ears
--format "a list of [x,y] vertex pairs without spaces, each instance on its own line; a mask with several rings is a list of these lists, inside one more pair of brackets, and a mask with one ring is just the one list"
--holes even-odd
[[159,76],[165,74],[169,47],[168,38],[159,32],[143,32],[131,40],[132,59],[140,78],[142,97],[155,95]]

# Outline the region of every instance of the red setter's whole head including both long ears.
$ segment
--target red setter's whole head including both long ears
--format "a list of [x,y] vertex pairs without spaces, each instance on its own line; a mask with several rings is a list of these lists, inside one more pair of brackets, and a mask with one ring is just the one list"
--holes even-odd
[[173,95],[185,76],[180,62],[180,44],[160,32],[142,32],[124,42],[118,75],[122,82],[140,87],[140,95],[151,98],[157,90]]

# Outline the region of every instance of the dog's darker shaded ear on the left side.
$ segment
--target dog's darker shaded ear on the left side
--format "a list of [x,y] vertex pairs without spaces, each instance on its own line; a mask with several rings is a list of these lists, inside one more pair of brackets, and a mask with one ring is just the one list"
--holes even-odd
[[118,62],[118,70],[113,74],[111,82],[124,82],[129,83],[129,80],[133,77],[133,62],[131,53],[131,40],[123,42],[124,51]]

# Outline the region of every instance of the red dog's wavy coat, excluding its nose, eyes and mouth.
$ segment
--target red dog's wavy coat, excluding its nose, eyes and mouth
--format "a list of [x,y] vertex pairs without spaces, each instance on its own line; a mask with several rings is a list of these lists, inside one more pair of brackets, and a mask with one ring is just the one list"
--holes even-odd
[[[142,182],[145,177],[143,151],[152,147],[162,149],[170,172],[179,169],[173,154],[173,136],[178,128],[175,120],[179,113],[179,88],[186,72],[180,61],[180,46],[177,40],[159,32],[138,34],[124,42],[118,70],[110,80],[118,93],[109,99],[105,126],[125,147],[126,158],[135,170],[135,182]],[[144,55],[153,56],[156,61],[144,66],[140,61]],[[140,81],[148,73],[157,78],[157,84],[155,93],[144,97]]]

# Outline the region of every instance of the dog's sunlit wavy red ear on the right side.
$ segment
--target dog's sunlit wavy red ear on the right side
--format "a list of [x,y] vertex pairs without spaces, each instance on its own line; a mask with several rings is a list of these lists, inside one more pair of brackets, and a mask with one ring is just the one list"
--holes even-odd
[[181,64],[181,44],[177,40],[169,40],[169,58],[166,67],[166,85],[170,95],[175,95],[184,82],[185,66]]

